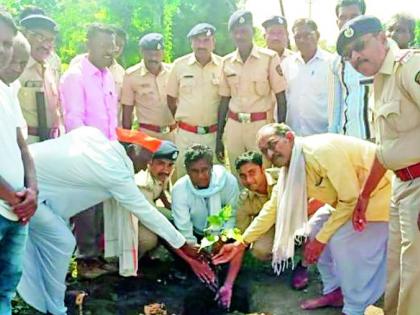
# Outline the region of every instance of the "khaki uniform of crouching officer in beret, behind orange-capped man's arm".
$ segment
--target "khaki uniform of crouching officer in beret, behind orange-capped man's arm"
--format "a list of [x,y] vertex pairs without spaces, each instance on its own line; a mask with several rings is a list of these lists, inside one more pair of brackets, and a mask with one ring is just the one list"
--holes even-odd
[[[149,170],[142,170],[135,176],[135,181],[140,191],[144,194],[147,201],[155,205],[155,200],[159,198],[163,191],[168,190],[169,181],[166,184],[155,180]],[[157,209],[167,218],[172,219],[170,210],[162,207]],[[139,259],[147,252],[158,246],[158,236],[139,222]]]

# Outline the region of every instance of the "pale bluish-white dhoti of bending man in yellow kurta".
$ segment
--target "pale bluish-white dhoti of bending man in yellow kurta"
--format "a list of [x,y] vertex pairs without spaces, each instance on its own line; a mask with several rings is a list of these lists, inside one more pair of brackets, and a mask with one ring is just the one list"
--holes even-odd
[[[319,209],[309,220],[311,239],[315,238],[331,212]],[[363,232],[356,232],[351,221],[340,227],[329,240],[318,260],[323,294],[341,288],[343,313],[363,315],[384,293],[388,223],[368,222]]]

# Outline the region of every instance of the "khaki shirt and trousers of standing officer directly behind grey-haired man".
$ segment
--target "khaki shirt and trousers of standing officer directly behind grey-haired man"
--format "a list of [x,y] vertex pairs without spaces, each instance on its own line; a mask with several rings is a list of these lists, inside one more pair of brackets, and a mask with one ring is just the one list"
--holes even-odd
[[[223,58],[219,94],[231,97],[229,111],[243,117],[242,122],[231,118],[226,122],[224,143],[230,163],[243,152],[257,149],[257,131],[273,122],[272,93],[285,89],[286,81],[281,75],[276,52],[254,46],[246,62],[242,61],[238,50]],[[266,113],[266,119],[250,122],[250,113]]]

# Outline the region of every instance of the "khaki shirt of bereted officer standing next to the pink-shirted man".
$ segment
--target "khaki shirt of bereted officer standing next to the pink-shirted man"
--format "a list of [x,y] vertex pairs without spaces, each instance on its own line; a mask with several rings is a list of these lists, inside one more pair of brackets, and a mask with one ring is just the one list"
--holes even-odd
[[175,121],[166,101],[166,81],[170,65],[162,63],[162,70],[155,76],[144,62],[127,69],[124,75],[121,104],[136,107],[140,123],[169,126]]

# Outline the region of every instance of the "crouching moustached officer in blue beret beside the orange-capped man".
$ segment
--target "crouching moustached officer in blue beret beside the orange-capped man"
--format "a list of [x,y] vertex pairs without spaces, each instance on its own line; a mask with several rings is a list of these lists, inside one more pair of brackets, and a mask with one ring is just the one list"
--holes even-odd
[[[135,176],[140,191],[152,205],[169,220],[172,219],[171,204],[167,198],[171,175],[174,171],[175,161],[178,158],[178,149],[170,141],[162,141],[159,149],[153,153],[147,163],[147,169],[141,170]],[[157,205],[160,201],[160,206]],[[162,207],[163,205],[163,207]],[[158,236],[143,224],[139,224],[139,259],[159,244]]]

